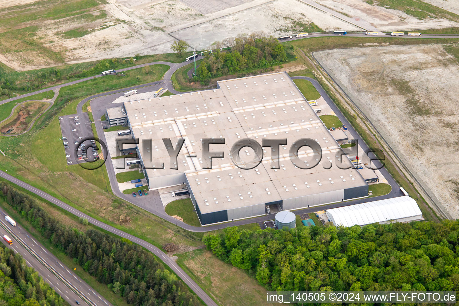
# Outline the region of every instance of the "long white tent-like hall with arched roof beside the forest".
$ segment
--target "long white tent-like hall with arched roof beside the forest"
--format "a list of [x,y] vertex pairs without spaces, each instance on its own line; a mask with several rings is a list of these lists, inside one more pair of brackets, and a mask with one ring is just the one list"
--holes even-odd
[[408,195],[392,199],[343,206],[325,211],[335,226],[366,225],[389,223],[390,221],[409,222],[422,220],[418,204]]

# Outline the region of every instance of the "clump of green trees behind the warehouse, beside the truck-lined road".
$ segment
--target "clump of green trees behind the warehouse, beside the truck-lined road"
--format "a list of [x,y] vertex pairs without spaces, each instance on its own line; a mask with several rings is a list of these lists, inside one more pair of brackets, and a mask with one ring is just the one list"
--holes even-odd
[[287,61],[284,46],[274,36],[267,37],[263,32],[239,34],[216,42],[216,50],[204,56],[193,78],[202,83],[210,78],[269,68]]

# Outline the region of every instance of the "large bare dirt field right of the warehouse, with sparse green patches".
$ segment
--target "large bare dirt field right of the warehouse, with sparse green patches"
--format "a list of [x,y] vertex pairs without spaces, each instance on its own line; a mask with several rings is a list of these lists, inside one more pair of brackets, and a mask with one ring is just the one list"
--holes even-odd
[[452,55],[458,50],[436,44],[314,53],[453,219],[459,217],[459,62]]

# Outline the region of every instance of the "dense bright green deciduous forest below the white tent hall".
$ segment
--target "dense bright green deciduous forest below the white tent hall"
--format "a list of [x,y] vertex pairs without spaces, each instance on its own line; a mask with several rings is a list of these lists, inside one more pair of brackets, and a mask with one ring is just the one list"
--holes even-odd
[[270,290],[459,290],[459,221],[207,234],[207,250]]

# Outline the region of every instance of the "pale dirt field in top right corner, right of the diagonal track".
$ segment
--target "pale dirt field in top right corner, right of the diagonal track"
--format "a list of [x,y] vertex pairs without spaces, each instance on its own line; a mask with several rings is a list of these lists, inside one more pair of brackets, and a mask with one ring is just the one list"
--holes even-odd
[[[418,19],[403,11],[371,5],[364,0],[316,0],[316,2],[330,7],[335,11],[352,16],[357,21],[362,19],[369,22],[369,24],[380,31],[457,27],[459,21],[448,20],[442,17]],[[449,7],[455,7],[456,11],[458,10],[457,1],[450,0],[449,5],[446,4],[448,1],[444,0],[427,0],[425,2],[429,2],[439,7],[444,6],[444,9],[448,11],[450,11],[448,9]],[[453,5],[454,2],[455,5]],[[455,12],[453,10],[451,11]]]

